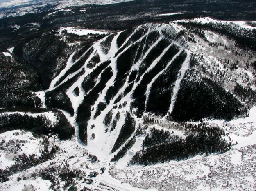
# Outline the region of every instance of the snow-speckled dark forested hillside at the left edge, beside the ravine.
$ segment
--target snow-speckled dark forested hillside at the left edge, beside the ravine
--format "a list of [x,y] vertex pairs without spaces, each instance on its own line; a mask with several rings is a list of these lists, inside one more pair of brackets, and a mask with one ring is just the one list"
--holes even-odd
[[33,91],[41,88],[39,76],[29,64],[0,56],[0,107],[41,107]]

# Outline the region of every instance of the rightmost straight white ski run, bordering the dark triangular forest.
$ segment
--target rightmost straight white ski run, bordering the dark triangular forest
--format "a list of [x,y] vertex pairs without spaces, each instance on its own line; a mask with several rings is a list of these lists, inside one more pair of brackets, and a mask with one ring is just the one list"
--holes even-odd
[[177,78],[177,80],[175,82],[175,85],[173,87],[173,95],[172,95],[172,98],[171,98],[169,113],[172,113],[172,110],[173,110],[175,102],[176,102],[177,93],[179,91],[179,87],[180,87],[180,84],[181,84],[181,80],[183,79],[186,70],[189,68],[190,51],[186,50],[186,53],[187,53],[187,58],[185,59],[185,61],[182,64],[181,69],[179,70],[180,76]]

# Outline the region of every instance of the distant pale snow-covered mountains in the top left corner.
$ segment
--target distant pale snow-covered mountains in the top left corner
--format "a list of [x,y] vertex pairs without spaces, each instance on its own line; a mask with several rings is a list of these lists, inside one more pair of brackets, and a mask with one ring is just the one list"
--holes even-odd
[[12,0],[0,4],[0,18],[22,16],[28,13],[60,10],[87,4],[113,4],[130,0]]

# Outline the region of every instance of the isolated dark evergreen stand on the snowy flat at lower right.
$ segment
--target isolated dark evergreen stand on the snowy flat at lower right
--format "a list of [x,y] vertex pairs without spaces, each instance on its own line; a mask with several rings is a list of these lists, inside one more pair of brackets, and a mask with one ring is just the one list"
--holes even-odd
[[231,147],[231,144],[222,138],[224,131],[218,127],[191,124],[184,128],[189,132],[186,138],[168,138],[168,132],[152,130],[151,135],[147,134],[147,139],[143,142],[145,148],[133,156],[131,163],[148,165],[182,160],[198,154],[222,153]]

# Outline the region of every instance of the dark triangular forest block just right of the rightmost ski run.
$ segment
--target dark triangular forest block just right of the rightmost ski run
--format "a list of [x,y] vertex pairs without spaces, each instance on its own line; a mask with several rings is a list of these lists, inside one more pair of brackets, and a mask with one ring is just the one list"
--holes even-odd
[[247,113],[245,106],[215,82],[208,78],[193,82],[185,76],[181,81],[170,119],[177,121],[202,118],[231,120],[245,113]]

